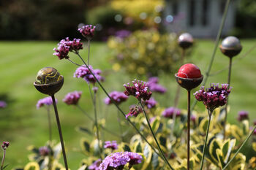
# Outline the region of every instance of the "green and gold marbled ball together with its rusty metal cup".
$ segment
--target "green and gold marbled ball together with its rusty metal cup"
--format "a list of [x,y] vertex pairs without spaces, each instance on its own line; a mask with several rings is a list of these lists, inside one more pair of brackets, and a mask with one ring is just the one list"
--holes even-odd
[[64,77],[53,67],[45,67],[37,73],[34,87],[39,92],[52,96],[57,93],[64,83]]

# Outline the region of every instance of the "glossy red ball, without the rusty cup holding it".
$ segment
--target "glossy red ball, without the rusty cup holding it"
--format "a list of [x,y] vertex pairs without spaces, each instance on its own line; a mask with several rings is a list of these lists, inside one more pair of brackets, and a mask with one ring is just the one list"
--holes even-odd
[[200,69],[193,63],[186,63],[178,69],[178,77],[195,79],[202,76]]

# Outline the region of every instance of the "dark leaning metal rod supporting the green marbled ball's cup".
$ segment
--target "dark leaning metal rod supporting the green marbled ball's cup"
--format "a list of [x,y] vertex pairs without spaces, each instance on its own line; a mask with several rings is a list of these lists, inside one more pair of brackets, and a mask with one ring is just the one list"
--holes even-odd
[[51,96],[51,98],[53,100],[53,107],[54,107],[54,111],[55,111],[55,115],[56,115],[56,122],[57,122],[58,130],[59,130],[59,139],[61,141],[61,148],[62,148],[62,154],[63,154],[63,158],[64,158],[65,169],[69,170],[69,167],[67,166],[67,156],[66,156],[66,152],[65,152],[64,140],[63,140],[63,136],[62,136],[62,132],[61,132],[61,123],[59,120],[59,114],[58,114],[58,109],[57,109],[54,94]]

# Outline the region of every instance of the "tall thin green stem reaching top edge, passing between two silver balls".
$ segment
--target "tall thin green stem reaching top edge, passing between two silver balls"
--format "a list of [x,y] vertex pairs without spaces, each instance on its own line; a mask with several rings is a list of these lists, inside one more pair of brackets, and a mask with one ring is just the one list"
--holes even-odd
[[[211,61],[210,61],[209,65],[208,65],[208,69],[206,71],[206,76],[203,77],[202,86],[206,85],[206,82],[207,82],[208,77],[209,77],[210,72],[211,72],[211,66],[214,63],[215,54],[216,54],[216,51],[217,51],[217,47],[219,45],[219,39],[220,39],[220,36],[222,35],[222,30],[223,30],[223,27],[224,27],[224,24],[225,24],[225,20],[227,18],[227,11],[228,11],[228,7],[230,6],[230,1],[231,0],[227,0],[227,2],[225,4],[225,10],[224,10],[224,13],[223,13],[223,16],[222,16],[222,22],[221,22],[221,24],[219,26],[218,35],[217,35],[217,38],[216,38],[216,41],[215,41],[215,45],[214,45],[214,51],[213,51],[213,53],[211,55]],[[192,104],[191,109],[194,109],[195,104],[197,104],[197,100],[194,101],[194,103]]]

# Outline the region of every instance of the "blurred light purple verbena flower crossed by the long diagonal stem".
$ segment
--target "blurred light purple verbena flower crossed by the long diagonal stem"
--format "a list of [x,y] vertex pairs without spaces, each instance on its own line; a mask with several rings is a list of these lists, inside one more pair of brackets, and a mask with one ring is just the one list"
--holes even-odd
[[[97,80],[104,81],[104,77],[100,75],[102,73],[100,69],[93,69],[91,65],[89,65],[89,69],[95,75]],[[94,76],[89,69],[85,65],[78,67],[78,69],[75,70],[74,77],[83,78],[88,84],[92,83],[94,85],[97,80],[94,79]]]

